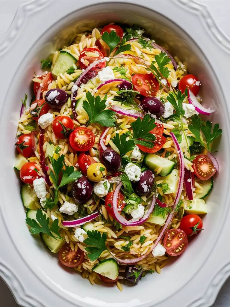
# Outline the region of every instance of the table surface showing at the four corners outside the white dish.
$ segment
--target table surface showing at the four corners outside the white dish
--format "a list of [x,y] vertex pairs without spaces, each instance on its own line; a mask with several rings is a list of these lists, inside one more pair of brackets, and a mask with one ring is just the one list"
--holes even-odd
[[[79,0],[73,0],[73,1],[79,1]],[[2,35],[6,33],[7,29],[9,28],[18,6],[24,2],[27,2],[27,0],[0,0],[0,39]],[[229,0],[197,0],[197,2],[204,3],[208,6],[209,12],[213,15],[214,19],[218,18],[219,21],[218,25],[220,26],[220,28],[228,36],[230,36]],[[2,18],[3,16],[4,19]],[[7,246],[5,248],[7,248]],[[230,278],[228,278],[223,288],[221,289],[213,307],[230,306],[229,289],[230,289]],[[0,307],[17,307],[17,306],[18,305],[15,303],[13,296],[10,293],[10,290],[7,288],[5,283],[0,279]]]

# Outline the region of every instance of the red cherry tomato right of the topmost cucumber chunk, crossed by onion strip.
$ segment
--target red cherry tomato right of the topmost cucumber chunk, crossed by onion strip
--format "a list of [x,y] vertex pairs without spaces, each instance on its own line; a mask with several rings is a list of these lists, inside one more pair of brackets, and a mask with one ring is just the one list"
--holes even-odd
[[[95,56],[90,54],[94,53]],[[81,69],[86,69],[94,61],[103,59],[104,54],[98,48],[86,48],[84,49],[79,56],[79,65]],[[102,62],[101,68],[105,67],[106,63]]]

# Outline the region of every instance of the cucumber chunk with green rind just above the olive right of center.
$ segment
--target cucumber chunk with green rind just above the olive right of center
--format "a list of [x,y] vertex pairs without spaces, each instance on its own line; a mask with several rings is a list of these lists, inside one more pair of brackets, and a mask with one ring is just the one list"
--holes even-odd
[[144,163],[152,171],[154,171],[157,167],[162,167],[159,176],[169,175],[175,166],[175,162],[159,157],[155,153],[146,153],[144,156]]

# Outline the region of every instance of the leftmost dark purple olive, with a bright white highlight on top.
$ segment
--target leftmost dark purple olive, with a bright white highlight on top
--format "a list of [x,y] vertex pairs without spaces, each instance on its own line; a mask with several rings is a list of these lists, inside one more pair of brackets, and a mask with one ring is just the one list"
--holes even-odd
[[67,93],[60,88],[52,88],[45,94],[45,101],[52,108],[61,108],[67,100]]

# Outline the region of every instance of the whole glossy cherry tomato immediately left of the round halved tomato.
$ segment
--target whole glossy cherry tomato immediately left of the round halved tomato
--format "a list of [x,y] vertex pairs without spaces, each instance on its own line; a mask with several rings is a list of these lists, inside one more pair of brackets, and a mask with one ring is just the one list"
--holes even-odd
[[68,116],[57,116],[52,123],[52,129],[57,138],[68,138],[74,130],[74,122]]

